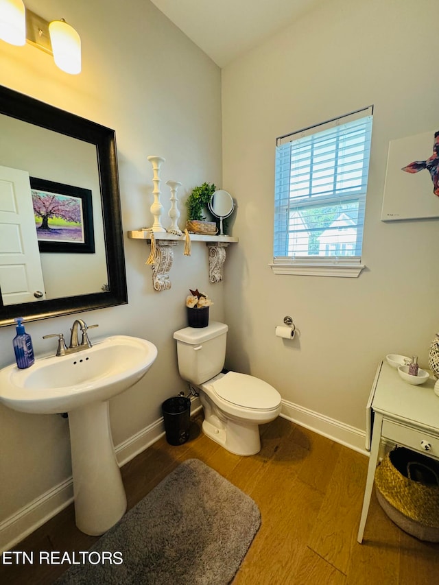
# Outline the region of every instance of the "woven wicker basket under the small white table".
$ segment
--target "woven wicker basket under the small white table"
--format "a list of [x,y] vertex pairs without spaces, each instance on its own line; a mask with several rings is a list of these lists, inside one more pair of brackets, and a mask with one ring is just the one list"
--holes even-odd
[[439,542],[437,462],[397,447],[377,467],[375,487],[390,520],[420,540]]

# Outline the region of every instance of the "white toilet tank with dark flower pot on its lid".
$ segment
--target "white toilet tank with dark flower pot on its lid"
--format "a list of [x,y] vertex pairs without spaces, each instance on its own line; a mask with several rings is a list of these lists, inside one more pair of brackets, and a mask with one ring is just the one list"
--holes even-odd
[[210,380],[224,368],[228,326],[211,321],[207,327],[185,327],[174,333],[178,371],[193,384]]

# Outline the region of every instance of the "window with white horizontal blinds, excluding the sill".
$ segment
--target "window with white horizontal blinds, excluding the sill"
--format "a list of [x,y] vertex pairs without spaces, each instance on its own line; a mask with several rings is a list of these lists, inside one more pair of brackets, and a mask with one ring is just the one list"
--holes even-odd
[[361,256],[372,106],[276,141],[274,263]]

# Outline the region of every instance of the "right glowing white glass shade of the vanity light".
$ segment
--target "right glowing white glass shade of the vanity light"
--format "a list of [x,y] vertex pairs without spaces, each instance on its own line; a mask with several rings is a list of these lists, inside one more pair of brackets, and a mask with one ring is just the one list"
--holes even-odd
[[56,65],[75,75],[81,71],[81,39],[73,27],[65,21],[49,24],[50,42]]

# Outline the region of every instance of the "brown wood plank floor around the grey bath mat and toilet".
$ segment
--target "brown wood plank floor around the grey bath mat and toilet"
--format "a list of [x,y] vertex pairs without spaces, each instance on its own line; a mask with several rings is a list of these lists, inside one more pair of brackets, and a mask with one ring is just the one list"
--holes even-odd
[[[364,543],[357,543],[368,463],[364,455],[277,418],[261,427],[261,452],[238,457],[206,438],[201,423],[201,416],[195,417],[185,445],[170,446],[163,438],[123,466],[128,508],[185,459],[196,457],[217,470],[254,499],[262,516],[233,585],[439,583],[439,545],[402,532],[375,497]],[[75,527],[69,506],[15,550],[84,551],[95,540]],[[0,565],[0,582],[50,585],[67,568]]]

